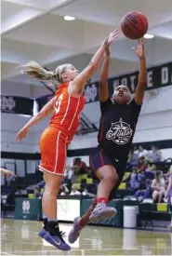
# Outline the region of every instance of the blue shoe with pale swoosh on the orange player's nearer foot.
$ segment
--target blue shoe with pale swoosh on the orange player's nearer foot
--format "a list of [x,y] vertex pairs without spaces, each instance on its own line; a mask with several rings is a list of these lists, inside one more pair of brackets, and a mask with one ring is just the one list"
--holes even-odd
[[71,247],[65,243],[65,241],[62,239],[61,235],[57,236],[51,236],[49,232],[46,232],[46,235],[44,236],[46,242],[53,245],[57,249],[60,250],[70,250]]

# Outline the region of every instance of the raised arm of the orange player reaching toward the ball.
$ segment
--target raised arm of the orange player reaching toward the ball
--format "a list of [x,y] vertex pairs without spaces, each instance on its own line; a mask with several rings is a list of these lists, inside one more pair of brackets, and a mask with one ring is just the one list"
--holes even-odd
[[87,80],[97,71],[100,61],[103,58],[105,49],[110,46],[112,42],[118,37],[118,30],[112,32],[108,38],[99,47],[99,50],[93,56],[92,60],[87,65],[86,69],[78,74],[73,82],[70,83],[69,92],[70,94],[81,94],[85,88]]

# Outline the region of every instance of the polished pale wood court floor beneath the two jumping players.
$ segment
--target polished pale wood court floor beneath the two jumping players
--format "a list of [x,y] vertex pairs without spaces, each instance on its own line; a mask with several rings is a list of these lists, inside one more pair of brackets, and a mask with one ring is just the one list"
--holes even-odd
[[[61,224],[66,234],[71,224]],[[1,255],[171,255],[172,234],[87,226],[72,250],[63,252],[37,236],[41,222],[1,221]]]

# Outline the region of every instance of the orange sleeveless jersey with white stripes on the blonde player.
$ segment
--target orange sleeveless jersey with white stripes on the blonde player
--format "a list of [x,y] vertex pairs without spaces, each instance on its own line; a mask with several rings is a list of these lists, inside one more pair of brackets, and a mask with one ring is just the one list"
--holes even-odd
[[55,113],[51,117],[49,126],[60,130],[66,135],[66,140],[70,143],[73,135],[79,126],[81,112],[85,105],[85,98],[81,96],[75,98],[68,93],[69,82],[60,85],[54,101]]

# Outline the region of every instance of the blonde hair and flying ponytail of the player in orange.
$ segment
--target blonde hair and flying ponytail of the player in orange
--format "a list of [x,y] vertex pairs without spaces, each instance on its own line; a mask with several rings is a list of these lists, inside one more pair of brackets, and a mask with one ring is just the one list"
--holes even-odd
[[21,74],[28,74],[33,78],[43,81],[52,80],[52,82],[58,85],[62,83],[61,74],[65,72],[68,65],[71,64],[60,65],[55,72],[47,71],[35,61],[29,61],[28,63],[20,67],[23,69],[21,71]]

